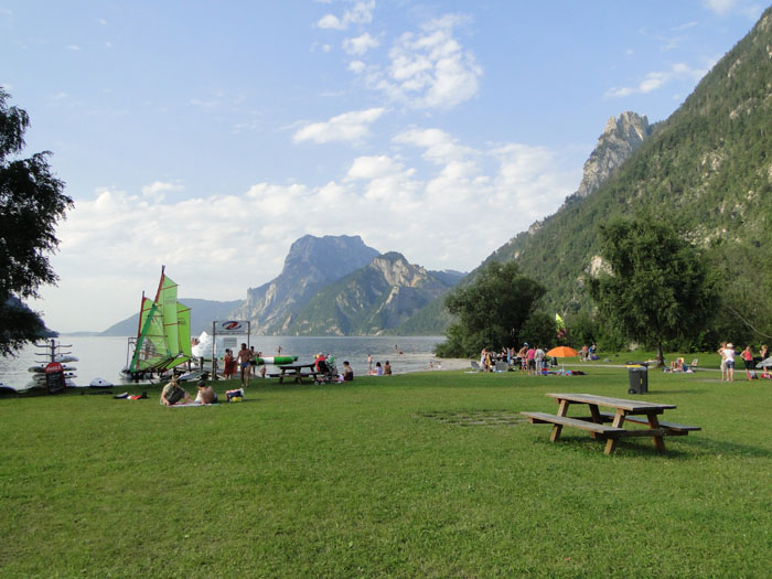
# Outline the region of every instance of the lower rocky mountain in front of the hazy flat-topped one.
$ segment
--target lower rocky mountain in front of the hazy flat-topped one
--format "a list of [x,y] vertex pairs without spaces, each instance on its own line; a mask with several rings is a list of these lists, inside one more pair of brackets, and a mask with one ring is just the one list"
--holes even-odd
[[371,335],[398,328],[463,276],[427,271],[388,253],[319,291],[287,326],[289,335]]

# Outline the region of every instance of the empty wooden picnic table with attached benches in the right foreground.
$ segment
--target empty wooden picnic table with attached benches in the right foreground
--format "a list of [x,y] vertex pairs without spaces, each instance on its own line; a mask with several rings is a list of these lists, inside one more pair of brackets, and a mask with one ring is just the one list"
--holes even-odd
[[[628,400],[624,398],[610,398],[593,394],[547,394],[558,403],[558,414],[521,412],[527,416],[530,423],[553,423],[550,441],[557,442],[564,426],[588,430],[593,439],[605,440],[605,454],[616,450],[620,438],[652,437],[654,448],[658,452],[665,451],[664,437],[686,436],[693,430],[700,430],[696,426],[664,422],[660,415],[665,410],[675,408],[673,404],[656,404],[641,400]],[[571,418],[568,416],[570,405],[587,405],[590,409],[589,417]],[[600,407],[613,408],[614,412],[601,412]],[[628,429],[625,421],[645,425],[647,429]],[[604,422],[611,422],[607,426]]]

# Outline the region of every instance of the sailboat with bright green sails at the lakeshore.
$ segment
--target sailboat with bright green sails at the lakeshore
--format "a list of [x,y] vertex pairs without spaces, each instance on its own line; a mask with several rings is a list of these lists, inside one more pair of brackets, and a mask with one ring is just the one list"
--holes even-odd
[[162,374],[191,360],[191,309],[176,300],[178,285],[161,267],[156,299],[142,292],[137,337],[125,373]]

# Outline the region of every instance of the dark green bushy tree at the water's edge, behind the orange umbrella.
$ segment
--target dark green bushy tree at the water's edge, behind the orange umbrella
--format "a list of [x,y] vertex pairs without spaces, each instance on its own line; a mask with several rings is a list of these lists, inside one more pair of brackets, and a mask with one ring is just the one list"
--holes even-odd
[[444,357],[474,356],[483,347],[514,345],[545,288],[519,272],[516,262],[491,261],[469,286],[446,296],[446,308],[458,317],[437,347]]

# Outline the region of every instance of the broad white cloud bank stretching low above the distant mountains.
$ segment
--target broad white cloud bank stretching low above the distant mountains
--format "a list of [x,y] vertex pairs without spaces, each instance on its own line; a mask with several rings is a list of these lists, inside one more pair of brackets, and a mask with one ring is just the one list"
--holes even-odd
[[305,234],[362,235],[431,269],[472,269],[554,212],[581,176],[540,147],[474,149],[432,128],[394,142],[421,149],[431,163],[419,170],[401,153],[362,156],[321,186],[261,182],[187,200],[154,194],[181,186],[163,181],[141,194],[101,190],[78,201],[60,226],[52,265],[61,281],[44,289],[39,307],[56,312],[50,321],[58,330],[105,329],[136,312],[161,265],[182,298],[244,299],[247,288],[281,271],[290,245]]

